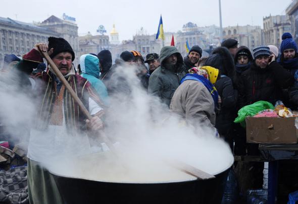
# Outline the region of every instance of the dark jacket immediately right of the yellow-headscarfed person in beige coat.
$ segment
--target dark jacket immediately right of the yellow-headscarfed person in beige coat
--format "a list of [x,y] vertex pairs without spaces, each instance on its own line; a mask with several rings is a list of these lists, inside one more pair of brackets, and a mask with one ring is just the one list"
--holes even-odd
[[215,88],[222,101],[216,115],[215,127],[220,135],[225,135],[232,128],[235,119],[238,91],[234,89],[231,78],[223,75],[216,81]]

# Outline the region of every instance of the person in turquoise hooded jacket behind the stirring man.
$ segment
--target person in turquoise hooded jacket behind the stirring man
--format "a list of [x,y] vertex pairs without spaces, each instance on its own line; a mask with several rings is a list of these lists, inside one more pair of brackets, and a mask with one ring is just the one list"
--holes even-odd
[[80,57],[81,76],[88,80],[96,90],[103,102],[103,105],[109,105],[109,95],[105,84],[100,78],[100,60],[92,54],[83,54]]

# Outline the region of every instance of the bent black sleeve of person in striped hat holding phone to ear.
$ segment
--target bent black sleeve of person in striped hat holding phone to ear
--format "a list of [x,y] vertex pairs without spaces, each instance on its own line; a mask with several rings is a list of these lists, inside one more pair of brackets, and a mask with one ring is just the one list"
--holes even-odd
[[276,80],[280,88],[286,89],[293,85],[294,77],[279,63],[277,63],[276,61],[271,62],[269,65],[269,69],[272,70],[274,79]]

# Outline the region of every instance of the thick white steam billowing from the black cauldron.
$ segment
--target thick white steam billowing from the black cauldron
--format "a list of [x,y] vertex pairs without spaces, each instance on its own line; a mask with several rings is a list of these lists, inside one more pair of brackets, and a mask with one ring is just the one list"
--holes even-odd
[[[63,146],[51,147],[57,154],[43,161],[47,168],[73,177],[137,182],[192,178],[170,167],[167,161],[183,161],[210,174],[220,173],[232,164],[228,145],[215,138],[212,130],[200,124],[185,125],[158,98],[146,93],[133,67],[120,66],[117,72],[129,87],[128,93],[119,92],[110,98],[105,119],[105,132],[115,143],[117,158],[109,151],[92,154],[86,135],[65,134],[59,138]],[[1,112],[2,118],[10,118],[13,125],[34,117],[34,103],[26,94],[1,88],[0,97],[5,99],[0,105],[6,107]],[[16,103],[19,100],[22,103]],[[101,149],[105,151],[105,145]],[[172,176],[171,172],[174,172]]]

